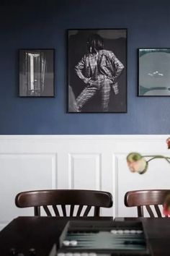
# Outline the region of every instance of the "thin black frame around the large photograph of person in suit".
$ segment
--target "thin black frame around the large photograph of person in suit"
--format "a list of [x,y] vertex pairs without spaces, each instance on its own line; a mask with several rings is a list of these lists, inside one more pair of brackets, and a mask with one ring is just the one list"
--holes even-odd
[[[123,111],[81,111],[81,112],[76,112],[76,111],[69,111],[69,82],[70,82],[70,75],[69,75],[69,32],[73,30],[81,30],[81,31],[94,31],[94,30],[124,30],[125,31],[125,62],[123,63],[125,66],[124,72],[125,72],[125,109]],[[114,113],[114,114],[121,114],[121,113],[127,113],[128,112],[128,29],[127,28],[70,28],[66,31],[66,36],[67,36],[67,113],[69,114],[77,114],[77,113],[82,113],[82,114],[101,114],[101,113]],[[109,49],[108,49],[109,50]],[[119,57],[118,57],[119,59]],[[120,61],[122,61],[120,59]]]

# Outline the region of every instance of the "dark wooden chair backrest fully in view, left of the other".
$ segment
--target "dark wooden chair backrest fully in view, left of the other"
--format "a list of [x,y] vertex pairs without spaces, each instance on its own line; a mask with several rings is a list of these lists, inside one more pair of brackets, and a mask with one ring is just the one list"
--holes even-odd
[[51,210],[55,216],[67,216],[66,205],[70,205],[68,216],[88,216],[89,211],[94,207],[93,216],[96,217],[99,216],[101,207],[112,207],[112,194],[104,191],[79,189],[27,191],[20,192],[15,197],[15,204],[19,208],[34,207],[35,216],[40,216],[41,207],[47,216],[52,216]]

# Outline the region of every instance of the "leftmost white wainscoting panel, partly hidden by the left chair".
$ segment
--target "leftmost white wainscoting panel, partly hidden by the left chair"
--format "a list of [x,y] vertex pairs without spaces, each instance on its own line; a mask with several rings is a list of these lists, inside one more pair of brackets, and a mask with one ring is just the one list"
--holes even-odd
[[18,215],[30,215],[18,209],[14,198],[18,192],[56,187],[55,154],[0,153],[0,225]]

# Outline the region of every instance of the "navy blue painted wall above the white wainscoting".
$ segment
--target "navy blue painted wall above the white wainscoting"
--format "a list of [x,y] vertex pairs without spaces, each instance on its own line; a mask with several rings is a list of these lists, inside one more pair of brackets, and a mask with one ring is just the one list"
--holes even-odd
[[[137,97],[137,48],[170,47],[169,0],[1,1],[0,134],[169,134],[170,98]],[[67,28],[128,28],[128,113],[68,114]],[[18,48],[55,48],[55,98],[18,97]]]

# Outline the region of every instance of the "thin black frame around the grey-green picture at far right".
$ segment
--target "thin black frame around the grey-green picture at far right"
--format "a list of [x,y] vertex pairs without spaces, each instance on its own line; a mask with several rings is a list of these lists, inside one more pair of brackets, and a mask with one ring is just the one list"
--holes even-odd
[[[140,91],[141,91],[141,89],[140,89],[140,51],[145,51],[145,50],[150,51],[150,53],[156,51],[156,52],[166,52],[166,53],[170,54],[170,48],[169,47],[138,48],[138,50],[137,50],[138,51],[138,53],[137,53],[138,54],[138,92],[137,92],[137,96],[138,97],[169,97],[170,94],[169,95],[162,95],[162,94],[161,95],[145,95],[145,94],[140,93]],[[154,61],[154,63],[156,63],[156,61]],[[170,63],[169,63],[169,67],[170,67]],[[156,70],[156,72],[157,72],[157,70]],[[170,82],[170,80],[169,80],[169,82]],[[154,89],[158,91],[158,90],[161,90],[161,89],[165,90],[165,89],[168,89],[168,88],[157,86],[157,87],[154,87]],[[143,90],[145,90],[145,88],[143,88]],[[150,90],[149,90],[149,88],[148,88],[148,90],[147,90],[147,88],[146,88],[146,92],[147,91],[151,92],[151,90],[153,90],[153,89],[150,88]]]

